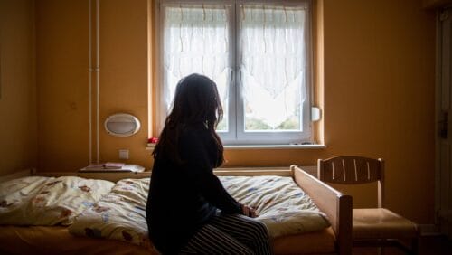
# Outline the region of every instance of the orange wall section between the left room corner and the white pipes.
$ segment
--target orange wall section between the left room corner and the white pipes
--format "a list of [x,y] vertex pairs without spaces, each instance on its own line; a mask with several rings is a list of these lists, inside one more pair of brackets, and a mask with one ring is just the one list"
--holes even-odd
[[88,164],[88,12],[85,1],[36,2],[39,168]]

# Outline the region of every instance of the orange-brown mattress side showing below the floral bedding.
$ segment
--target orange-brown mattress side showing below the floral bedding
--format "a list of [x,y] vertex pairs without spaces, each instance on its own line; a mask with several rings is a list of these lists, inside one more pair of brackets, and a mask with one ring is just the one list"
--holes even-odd
[[[0,254],[158,254],[124,241],[76,237],[63,226],[0,226]],[[334,253],[330,228],[273,241],[275,254]]]

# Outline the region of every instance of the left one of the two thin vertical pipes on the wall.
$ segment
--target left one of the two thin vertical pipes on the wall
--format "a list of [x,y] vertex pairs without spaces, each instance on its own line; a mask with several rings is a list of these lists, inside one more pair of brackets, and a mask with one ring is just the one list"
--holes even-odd
[[91,0],[88,0],[89,165],[92,164],[92,34]]

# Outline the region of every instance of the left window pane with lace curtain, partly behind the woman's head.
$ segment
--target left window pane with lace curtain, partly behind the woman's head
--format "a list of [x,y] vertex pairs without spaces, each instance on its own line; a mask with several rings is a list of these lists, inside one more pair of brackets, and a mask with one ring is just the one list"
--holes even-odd
[[164,98],[167,110],[177,82],[191,73],[217,83],[224,116],[220,130],[228,130],[230,61],[230,7],[221,5],[167,5],[164,11]]

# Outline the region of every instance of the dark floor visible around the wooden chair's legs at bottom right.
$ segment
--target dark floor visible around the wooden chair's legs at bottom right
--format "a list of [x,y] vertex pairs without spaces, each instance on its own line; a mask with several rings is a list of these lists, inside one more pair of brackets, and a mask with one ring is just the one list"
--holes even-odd
[[[353,248],[353,255],[374,255],[378,254],[377,249]],[[404,255],[405,253],[397,248],[385,248],[383,255]],[[423,236],[419,241],[419,255],[452,255],[452,240],[445,236]]]

